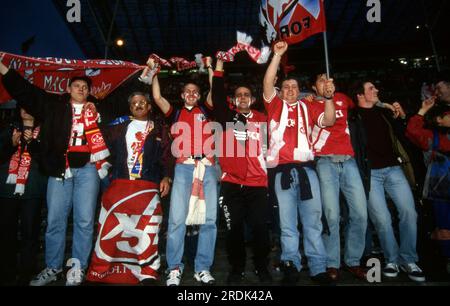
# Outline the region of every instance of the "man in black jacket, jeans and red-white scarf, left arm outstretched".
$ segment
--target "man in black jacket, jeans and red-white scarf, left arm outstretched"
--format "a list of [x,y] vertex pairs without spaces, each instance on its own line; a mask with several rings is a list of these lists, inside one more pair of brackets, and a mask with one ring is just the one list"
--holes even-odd
[[[63,268],[67,219],[73,208],[71,271],[66,285],[83,282],[92,248],[100,176],[105,175],[109,151],[97,127],[99,114],[88,103],[90,81],[74,77],[64,95],[49,94],[0,62],[3,84],[22,108],[42,122],[42,165],[47,175],[46,268],[30,283],[55,281]],[[90,100],[92,101],[92,100]]]

